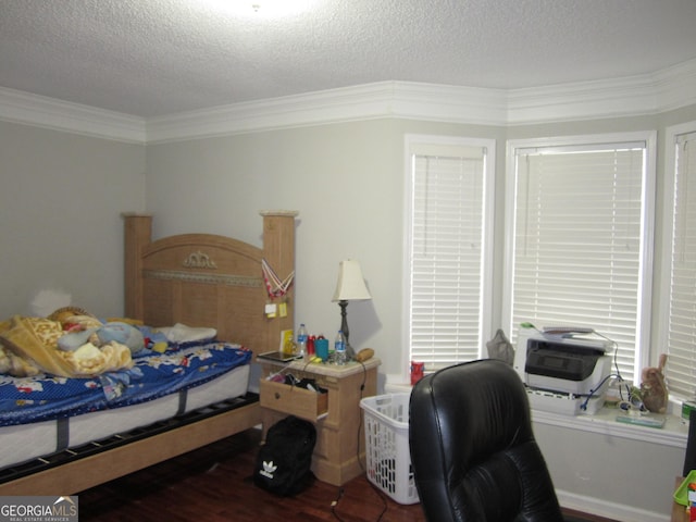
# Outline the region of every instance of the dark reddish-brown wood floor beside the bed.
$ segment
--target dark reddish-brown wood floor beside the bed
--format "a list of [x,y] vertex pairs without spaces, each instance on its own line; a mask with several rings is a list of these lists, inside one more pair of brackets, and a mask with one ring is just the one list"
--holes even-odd
[[[258,430],[235,435],[176,459],[79,494],[79,520],[238,522],[424,522],[419,504],[402,506],[364,475],[343,487],[322,482],[281,498],[251,482]],[[579,513],[572,513],[577,515]],[[582,518],[611,522],[600,518]]]

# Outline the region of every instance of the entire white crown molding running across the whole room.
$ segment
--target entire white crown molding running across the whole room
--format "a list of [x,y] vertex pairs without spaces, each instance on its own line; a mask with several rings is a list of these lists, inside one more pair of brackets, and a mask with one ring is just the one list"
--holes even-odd
[[0,120],[142,145],[384,117],[509,126],[692,104],[696,60],[647,75],[510,90],[378,82],[148,120],[0,88]]

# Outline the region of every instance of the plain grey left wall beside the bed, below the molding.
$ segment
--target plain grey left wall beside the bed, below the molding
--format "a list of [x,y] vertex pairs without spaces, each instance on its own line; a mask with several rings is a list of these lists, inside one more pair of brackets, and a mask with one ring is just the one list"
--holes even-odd
[[41,290],[123,313],[122,211],[145,210],[145,146],[0,121],[0,320]]

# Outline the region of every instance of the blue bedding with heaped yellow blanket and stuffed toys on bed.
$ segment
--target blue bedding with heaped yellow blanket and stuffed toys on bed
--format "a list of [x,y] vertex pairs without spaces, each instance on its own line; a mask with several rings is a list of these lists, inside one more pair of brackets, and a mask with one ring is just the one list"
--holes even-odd
[[66,307],[0,322],[0,425],[120,408],[198,386],[251,360],[213,328],[100,321]]

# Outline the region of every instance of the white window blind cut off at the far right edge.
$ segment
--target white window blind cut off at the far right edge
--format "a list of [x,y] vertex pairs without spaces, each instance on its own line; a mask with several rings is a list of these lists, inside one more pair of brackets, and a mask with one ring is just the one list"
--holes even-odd
[[670,391],[696,390],[696,133],[676,137],[668,327]]

